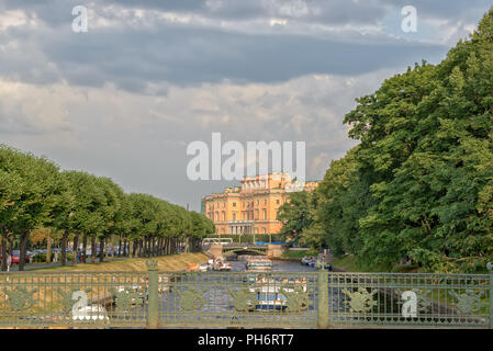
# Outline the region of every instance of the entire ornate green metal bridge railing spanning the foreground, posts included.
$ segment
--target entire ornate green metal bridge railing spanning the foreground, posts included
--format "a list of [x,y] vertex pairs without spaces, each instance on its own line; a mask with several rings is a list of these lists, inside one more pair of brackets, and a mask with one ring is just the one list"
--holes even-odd
[[0,328],[493,328],[493,273],[16,272]]

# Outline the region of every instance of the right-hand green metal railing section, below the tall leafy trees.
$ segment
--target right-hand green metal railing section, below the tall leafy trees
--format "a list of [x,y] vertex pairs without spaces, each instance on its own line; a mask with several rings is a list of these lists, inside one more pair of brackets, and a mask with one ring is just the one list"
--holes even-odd
[[475,327],[491,320],[489,274],[333,273],[333,326]]

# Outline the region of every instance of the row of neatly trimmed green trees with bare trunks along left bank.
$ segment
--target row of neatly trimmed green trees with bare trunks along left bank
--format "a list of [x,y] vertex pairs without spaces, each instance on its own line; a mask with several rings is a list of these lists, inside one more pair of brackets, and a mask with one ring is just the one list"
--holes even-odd
[[215,233],[214,224],[197,212],[147,194],[125,194],[111,179],[80,171],[60,171],[46,158],[0,145],[0,233],[2,270],[7,268],[9,238],[20,238],[19,270],[24,269],[30,233],[45,227],[61,231],[61,264],[74,242],[74,260],[88,241],[92,261],[99,242],[117,238],[120,254],[149,257],[175,253],[179,242],[192,250],[200,239]]

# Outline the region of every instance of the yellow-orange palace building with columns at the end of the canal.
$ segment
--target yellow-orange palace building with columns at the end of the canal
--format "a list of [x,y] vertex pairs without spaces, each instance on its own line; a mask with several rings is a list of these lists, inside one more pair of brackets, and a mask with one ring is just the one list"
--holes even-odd
[[[246,177],[240,186],[202,197],[202,213],[215,224],[216,234],[278,234],[278,208],[289,194],[300,191],[289,173]],[[302,190],[312,191],[317,182],[305,182]]]

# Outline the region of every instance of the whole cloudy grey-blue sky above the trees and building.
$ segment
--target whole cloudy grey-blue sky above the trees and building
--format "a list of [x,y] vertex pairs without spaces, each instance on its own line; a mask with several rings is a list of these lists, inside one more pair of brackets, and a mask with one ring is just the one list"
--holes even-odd
[[[72,30],[72,9],[88,31]],[[417,32],[402,31],[402,9]],[[187,145],[305,141],[306,177],[352,147],[355,99],[439,63],[491,0],[0,0],[0,143],[192,210]]]

